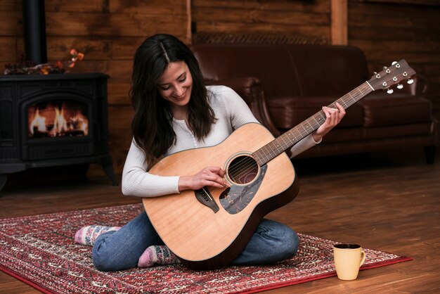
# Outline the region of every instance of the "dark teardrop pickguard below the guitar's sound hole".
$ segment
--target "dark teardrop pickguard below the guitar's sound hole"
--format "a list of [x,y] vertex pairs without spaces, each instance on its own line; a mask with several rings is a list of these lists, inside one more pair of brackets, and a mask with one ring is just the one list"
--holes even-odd
[[223,191],[220,195],[221,206],[231,215],[244,210],[261,186],[266,170],[267,165],[263,165],[257,179],[249,185],[233,185]]

